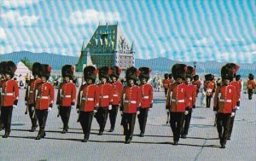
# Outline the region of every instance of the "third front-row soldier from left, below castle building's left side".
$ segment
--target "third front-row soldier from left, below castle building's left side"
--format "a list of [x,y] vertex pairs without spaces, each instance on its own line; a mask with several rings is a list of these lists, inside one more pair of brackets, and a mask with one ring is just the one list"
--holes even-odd
[[99,106],[100,92],[95,84],[97,73],[98,71],[94,66],[84,67],[84,80],[86,84],[82,85],[79,89],[77,112],[79,113],[78,122],[80,122],[84,132],[83,142],[89,140],[92,118]]

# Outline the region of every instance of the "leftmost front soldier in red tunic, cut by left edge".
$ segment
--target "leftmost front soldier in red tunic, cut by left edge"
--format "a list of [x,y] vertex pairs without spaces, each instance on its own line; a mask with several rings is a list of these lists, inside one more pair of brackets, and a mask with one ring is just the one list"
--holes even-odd
[[13,79],[15,71],[15,63],[13,61],[7,61],[3,71],[5,80],[1,84],[1,118],[5,128],[3,138],[9,137],[13,108],[17,107],[19,100],[19,87]]

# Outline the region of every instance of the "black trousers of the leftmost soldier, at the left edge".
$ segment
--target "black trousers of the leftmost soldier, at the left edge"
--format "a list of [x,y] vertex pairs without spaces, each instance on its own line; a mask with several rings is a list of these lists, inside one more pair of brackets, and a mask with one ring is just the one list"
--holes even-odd
[[13,106],[1,106],[1,118],[5,128],[5,134],[9,135],[12,124]]

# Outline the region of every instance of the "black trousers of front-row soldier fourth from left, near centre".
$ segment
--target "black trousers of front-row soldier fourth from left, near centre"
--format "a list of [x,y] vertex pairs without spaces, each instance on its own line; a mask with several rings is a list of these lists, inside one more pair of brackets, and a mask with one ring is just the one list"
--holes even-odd
[[125,141],[132,139],[134,125],[136,121],[136,113],[124,113],[122,118],[122,124],[125,132]]

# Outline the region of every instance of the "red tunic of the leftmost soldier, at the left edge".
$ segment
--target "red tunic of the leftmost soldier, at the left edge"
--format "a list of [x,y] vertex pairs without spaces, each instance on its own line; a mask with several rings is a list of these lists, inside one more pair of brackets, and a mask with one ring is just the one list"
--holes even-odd
[[5,80],[1,83],[1,106],[14,106],[14,101],[19,100],[18,83],[13,80]]

